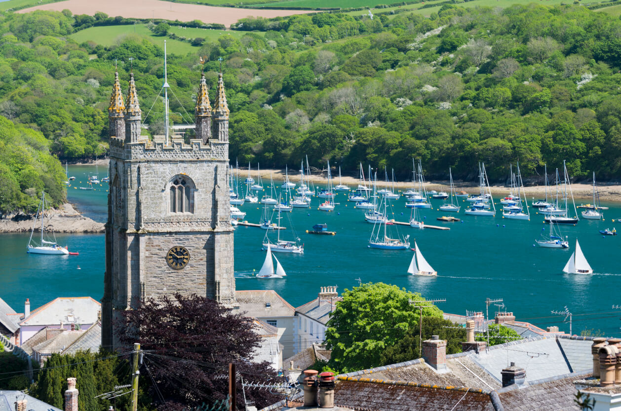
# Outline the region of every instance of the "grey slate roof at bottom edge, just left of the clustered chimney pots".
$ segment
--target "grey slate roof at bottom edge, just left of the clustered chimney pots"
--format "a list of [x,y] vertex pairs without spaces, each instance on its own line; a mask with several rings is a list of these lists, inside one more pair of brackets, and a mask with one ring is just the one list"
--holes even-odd
[[574,402],[576,386],[573,382],[590,373],[573,373],[556,379],[533,381],[525,386],[509,386],[498,391],[505,411],[579,411]]

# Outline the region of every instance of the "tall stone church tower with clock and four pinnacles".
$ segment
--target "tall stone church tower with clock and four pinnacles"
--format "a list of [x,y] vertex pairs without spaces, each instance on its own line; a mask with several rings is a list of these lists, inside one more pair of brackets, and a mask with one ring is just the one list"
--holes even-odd
[[[230,225],[229,107],[219,75],[214,108],[201,76],[196,138],[141,136],[130,75],[124,106],[116,73],[110,107],[110,190],[102,346],[119,346],[114,322],[146,297],[199,294],[236,307]],[[212,119],[214,120],[212,122]],[[213,137],[212,137],[213,136]]]

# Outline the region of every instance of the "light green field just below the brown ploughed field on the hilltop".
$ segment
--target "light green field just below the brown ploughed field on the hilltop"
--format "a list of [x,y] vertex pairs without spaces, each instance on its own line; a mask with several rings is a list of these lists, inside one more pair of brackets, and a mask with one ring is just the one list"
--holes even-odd
[[[211,42],[216,40],[222,35],[232,35],[236,38],[243,37],[247,32],[239,32],[232,30],[210,30],[210,29],[195,29],[188,27],[187,29],[179,28],[178,26],[171,26],[170,32],[179,36],[196,38],[202,37]],[[99,27],[90,27],[89,29],[80,30],[77,33],[71,34],[69,37],[73,38],[78,43],[86,42],[88,40],[96,42],[104,46],[114,45],[117,40],[125,35],[139,35],[141,37],[148,38],[157,45],[163,45],[164,40],[168,45],[168,51],[171,53],[186,55],[187,53],[193,53],[198,50],[198,47],[193,47],[188,42],[182,42],[180,40],[172,40],[168,37],[161,37],[153,35],[147,26],[144,24],[136,25],[104,25]]]

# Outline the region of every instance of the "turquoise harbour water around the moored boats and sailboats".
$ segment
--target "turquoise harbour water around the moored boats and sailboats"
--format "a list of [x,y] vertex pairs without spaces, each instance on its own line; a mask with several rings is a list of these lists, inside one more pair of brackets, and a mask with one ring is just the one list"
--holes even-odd
[[[106,176],[100,168],[99,176]],[[70,166],[70,174],[86,181],[91,166]],[[279,184],[278,184],[279,186]],[[69,201],[89,217],[106,219],[107,184],[95,191],[70,187]],[[506,309],[515,312],[520,320],[545,327],[563,324],[563,317],[551,316],[551,310],[562,310],[565,305],[573,313],[573,332],[582,329],[601,330],[607,335],[619,333],[621,310],[612,310],[621,304],[621,269],[617,261],[621,236],[605,237],[598,230],[614,227],[610,219],[621,218],[620,204],[605,204],[604,222],[581,220],[578,225],[561,227],[569,236],[570,250],[550,250],[534,247],[540,237],[542,215],[534,214],[530,221],[505,220],[502,213],[492,217],[457,217],[463,222],[442,223],[435,220],[443,214],[437,210],[422,210],[428,224],[445,225],[450,231],[415,230],[398,226],[402,235],[410,234],[412,245],[417,241],[427,261],[438,271],[437,278],[409,276],[407,267],[412,251],[383,251],[368,248],[373,228],[363,219],[363,211],[353,208],[347,196],[338,194],[340,202],[334,212],[317,210],[319,199],[314,198],[311,209],[294,209],[283,213],[281,225],[287,230],[284,239],[292,238],[294,228],[304,242],[304,255],[278,254],[288,276],[283,279],[261,280],[252,277],[265,259],[261,240],[265,231],[256,227],[238,226],[235,229],[235,273],[237,289],[274,289],[292,305],[298,306],[313,299],[320,286],[351,288],[363,282],[383,281],[421,292],[428,298],[445,298],[438,306],[446,312],[465,314],[465,310],[485,312],[487,297],[503,298]],[[323,201],[323,200],[321,200]],[[442,204],[432,201],[433,206]],[[466,203],[461,203],[464,206]],[[248,222],[258,222],[260,205],[246,203],[239,207],[247,212]],[[394,201],[394,218],[406,222],[410,210],[403,199]],[[305,230],[317,223],[327,223],[335,236],[310,235]],[[618,224],[621,231],[621,223]],[[275,237],[275,233],[270,233]],[[57,296],[91,296],[100,299],[103,291],[104,236],[58,235],[61,244],[79,251],[79,256],[33,256],[25,253],[28,235],[0,236],[0,257],[6,261],[0,275],[0,296],[16,310],[26,297],[33,306]],[[582,251],[594,268],[592,276],[563,274],[562,269],[574,249],[576,237]],[[77,269],[77,267],[81,269]],[[489,311],[492,313],[493,305]],[[542,318],[544,317],[544,318]]]

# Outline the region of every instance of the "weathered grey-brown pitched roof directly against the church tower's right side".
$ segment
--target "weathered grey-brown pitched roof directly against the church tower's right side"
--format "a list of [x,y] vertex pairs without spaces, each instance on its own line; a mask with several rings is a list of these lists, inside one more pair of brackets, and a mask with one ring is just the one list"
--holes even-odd
[[[240,312],[248,317],[293,317],[296,309],[274,290],[235,291]],[[266,307],[266,303],[270,307]]]

